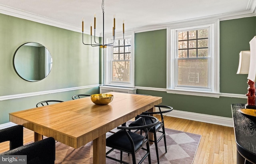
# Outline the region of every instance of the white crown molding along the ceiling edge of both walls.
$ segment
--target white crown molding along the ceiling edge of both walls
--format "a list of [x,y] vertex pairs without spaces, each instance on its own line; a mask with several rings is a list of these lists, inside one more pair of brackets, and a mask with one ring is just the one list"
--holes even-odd
[[[217,14],[213,16],[206,16],[206,17],[201,17],[201,18],[194,18],[194,19],[189,19],[189,20],[182,20],[182,21],[176,21],[176,22],[168,22],[164,24],[156,24],[153,26],[144,26],[140,28],[132,28],[132,29],[126,29],[126,31],[134,31],[134,32],[144,32],[144,31],[152,31],[154,29],[164,29],[167,26],[172,26],[175,24],[182,24],[182,23],[187,23],[187,22],[197,22],[197,21],[202,21],[202,20],[211,20],[211,19],[220,19],[220,20],[229,20],[229,19],[237,19],[237,18],[245,18],[245,17],[250,17],[250,16],[256,16],[255,14],[255,8],[256,8],[256,1],[255,0],[249,0],[247,9],[243,11],[238,11],[238,12],[230,12],[230,13],[225,13],[225,14]],[[0,4],[0,13],[6,14],[9,16],[14,16],[17,18],[22,18],[26,20],[31,20],[34,22],[50,25],[50,26],[55,26],[58,28],[63,28],[66,30],[71,30],[74,32],[81,32],[81,28],[78,26],[73,26],[71,24],[67,24],[65,22],[60,22],[58,20],[54,20],[51,18],[47,18],[44,16],[40,16],[37,14],[33,14],[30,12],[26,12],[24,10],[18,10],[16,8],[11,8],[9,6],[5,6]],[[84,34],[90,35],[89,30],[84,30]],[[96,32],[96,36],[100,37],[101,33]]]

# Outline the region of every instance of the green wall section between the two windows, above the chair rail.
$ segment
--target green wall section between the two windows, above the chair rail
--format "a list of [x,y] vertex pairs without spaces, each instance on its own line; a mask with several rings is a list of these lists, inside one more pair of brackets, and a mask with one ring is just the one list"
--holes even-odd
[[166,88],[166,30],[135,34],[135,86]]

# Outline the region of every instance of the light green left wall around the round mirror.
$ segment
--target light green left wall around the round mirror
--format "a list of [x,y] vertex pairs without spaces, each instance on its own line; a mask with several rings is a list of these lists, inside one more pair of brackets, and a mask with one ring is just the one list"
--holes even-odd
[[[100,50],[82,44],[82,34],[54,26],[0,14],[0,96],[26,94],[88,85],[100,82]],[[88,35],[84,35],[87,42]],[[28,82],[20,78],[12,65],[16,49],[27,42],[41,43],[50,51],[52,70],[43,80]],[[0,124],[9,121],[9,113],[36,107],[48,99],[71,100],[76,93],[98,93],[98,87],[0,101]]]

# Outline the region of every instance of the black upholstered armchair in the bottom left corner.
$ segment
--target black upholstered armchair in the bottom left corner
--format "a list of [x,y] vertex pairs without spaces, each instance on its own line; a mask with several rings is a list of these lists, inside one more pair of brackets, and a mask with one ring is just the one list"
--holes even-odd
[[16,125],[0,130],[0,142],[10,142],[10,150],[1,155],[26,155],[27,164],[54,164],[55,140],[45,138],[23,145],[23,126]]

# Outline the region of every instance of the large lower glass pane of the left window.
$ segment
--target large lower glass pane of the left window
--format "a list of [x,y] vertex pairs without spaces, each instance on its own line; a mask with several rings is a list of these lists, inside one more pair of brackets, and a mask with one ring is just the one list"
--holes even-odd
[[113,61],[113,82],[130,82],[130,61]]

